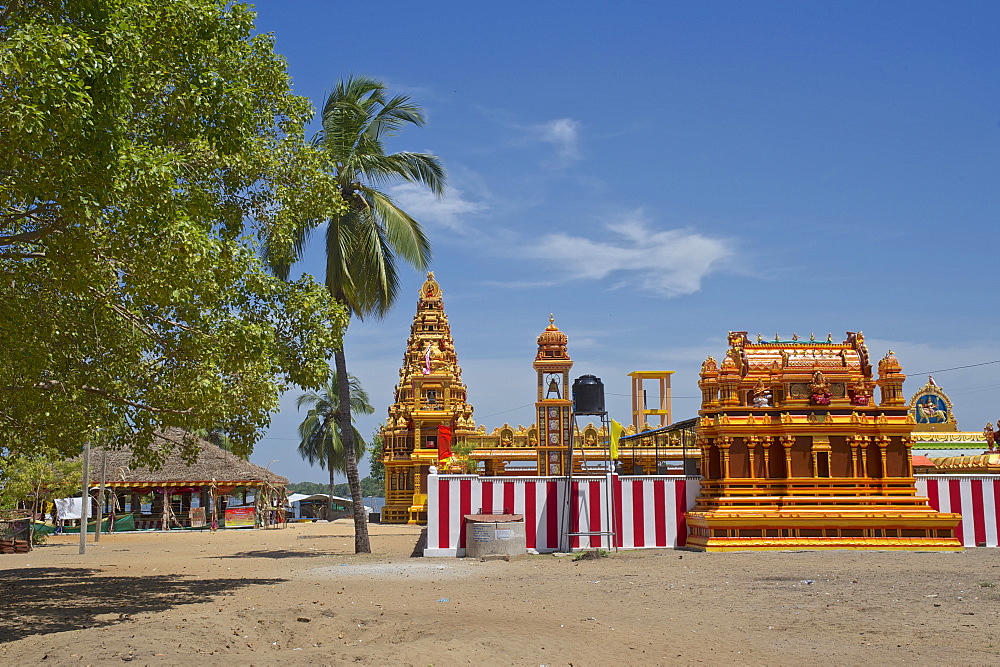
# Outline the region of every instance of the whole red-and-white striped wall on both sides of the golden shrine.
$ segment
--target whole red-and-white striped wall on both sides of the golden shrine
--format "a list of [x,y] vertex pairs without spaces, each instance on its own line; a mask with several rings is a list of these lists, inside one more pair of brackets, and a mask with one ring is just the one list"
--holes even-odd
[[[523,514],[526,546],[539,552],[560,548],[571,514],[570,533],[595,533],[571,537],[571,548],[609,548],[609,483],[616,546],[682,547],[687,539],[684,513],[694,507],[699,480],[696,476],[575,478],[570,508],[565,477],[431,475],[424,555],[464,556],[467,514]],[[1000,476],[917,475],[917,493],[929,498],[936,510],[962,514],[956,532],[963,545],[1000,546]]]

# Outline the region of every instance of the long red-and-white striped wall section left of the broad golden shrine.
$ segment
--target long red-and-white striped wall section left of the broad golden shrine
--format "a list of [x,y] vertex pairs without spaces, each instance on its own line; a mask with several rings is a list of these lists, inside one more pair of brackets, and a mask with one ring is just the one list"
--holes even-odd
[[[609,479],[609,477],[611,479]],[[555,551],[570,521],[570,546],[673,548],[687,537],[684,512],[698,495],[698,477],[581,477],[567,504],[565,477],[431,475],[425,556],[464,556],[467,514],[523,514],[528,549]],[[608,484],[611,493],[608,493]],[[608,504],[614,512],[607,511]],[[622,511],[624,509],[624,512]],[[614,522],[614,531],[609,526]]]

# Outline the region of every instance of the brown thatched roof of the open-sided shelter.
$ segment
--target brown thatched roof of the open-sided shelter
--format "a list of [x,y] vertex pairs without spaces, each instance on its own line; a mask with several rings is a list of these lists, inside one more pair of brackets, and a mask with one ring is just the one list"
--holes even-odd
[[[199,448],[198,460],[191,465],[184,461],[178,451],[178,444],[184,439],[194,439]],[[132,450],[129,448],[109,449],[106,480],[108,486],[207,486],[213,481],[222,486],[259,486],[262,482],[276,486],[288,484],[287,478],[244,461],[207,440],[192,436],[181,429],[164,431],[156,437],[153,446],[173,449],[157,470],[132,467],[130,465]],[[90,480],[94,484],[98,482],[100,475],[102,452],[103,449],[99,447],[90,451]]]

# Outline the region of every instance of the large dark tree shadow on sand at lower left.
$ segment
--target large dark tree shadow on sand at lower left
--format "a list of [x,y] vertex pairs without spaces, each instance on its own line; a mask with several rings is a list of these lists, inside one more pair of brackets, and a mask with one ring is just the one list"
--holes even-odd
[[129,622],[135,614],[205,602],[287,579],[196,579],[181,575],[96,576],[89,568],[0,571],[0,643],[50,632]]

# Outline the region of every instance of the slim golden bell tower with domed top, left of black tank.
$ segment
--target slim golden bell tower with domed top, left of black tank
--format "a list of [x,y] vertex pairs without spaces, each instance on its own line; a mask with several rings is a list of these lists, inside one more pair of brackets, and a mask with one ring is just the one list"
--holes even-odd
[[535,415],[538,419],[538,474],[566,474],[573,442],[573,401],[567,395],[573,361],[566,344],[569,339],[549,315],[549,326],[538,337],[538,354],[532,364],[538,374]]

